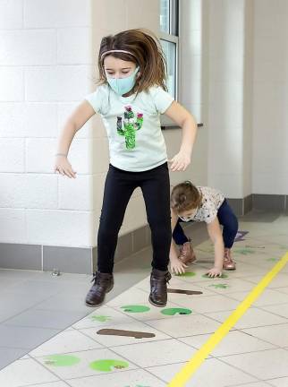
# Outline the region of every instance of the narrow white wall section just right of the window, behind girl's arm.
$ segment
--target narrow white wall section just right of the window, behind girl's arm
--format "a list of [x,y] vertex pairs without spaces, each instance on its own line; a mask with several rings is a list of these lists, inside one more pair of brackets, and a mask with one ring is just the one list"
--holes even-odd
[[[208,184],[208,1],[180,2],[180,102],[198,123],[197,140],[191,167],[183,173],[171,174],[173,184],[189,179],[196,185]],[[172,150],[178,150],[180,131],[166,136]],[[174,141],[175,140],[175,141]],[[175,143],[172,149],[172,144]]]

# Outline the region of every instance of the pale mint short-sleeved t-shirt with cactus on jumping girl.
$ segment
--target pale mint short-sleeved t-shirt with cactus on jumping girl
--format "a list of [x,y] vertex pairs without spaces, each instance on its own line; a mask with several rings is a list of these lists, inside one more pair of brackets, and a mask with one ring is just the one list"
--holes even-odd
[[137,96],[122,97],[105,84],[85,99],[102,116],[114,167],[140,172],[165,163],[160,114],[174,101],[170,94],[155,86]]

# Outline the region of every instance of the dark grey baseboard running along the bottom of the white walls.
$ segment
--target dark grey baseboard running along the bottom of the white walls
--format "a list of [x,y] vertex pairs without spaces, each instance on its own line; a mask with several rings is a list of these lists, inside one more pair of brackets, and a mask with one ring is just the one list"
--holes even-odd
[[[253,193],[242,199],[228,198],[237,216],[251,210],[278,211],[288,215],[288,195]],[[203,235],[203,225],[192,223],[185,228],[193,234],[193,244]],[[195,236],[195,237],[194,237]],[[121,262],[131,254],[151,245],[148,225],[119,236],[114,262]],[[60,271],[90,274],[97,267],[97,247],[64,247],[0,243],[0,269]]]

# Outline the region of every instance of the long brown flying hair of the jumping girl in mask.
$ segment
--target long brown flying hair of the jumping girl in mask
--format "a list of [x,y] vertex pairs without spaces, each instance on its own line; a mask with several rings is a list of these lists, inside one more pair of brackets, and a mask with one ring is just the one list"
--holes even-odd
[[136,79],[132,91],[139,93],[148,90],[151,86],[160,86],[167,90],[166,60],[160,42],[149,30],[124,30],[116,35],[108,35],[101,40],[98,67],[99,83],[106,83],[106,73],[104,70],[104,59],[106,51],[121,49],[131,52],[109,53],[108,55],[124,61],[133,62],[140,67],[140,76]]

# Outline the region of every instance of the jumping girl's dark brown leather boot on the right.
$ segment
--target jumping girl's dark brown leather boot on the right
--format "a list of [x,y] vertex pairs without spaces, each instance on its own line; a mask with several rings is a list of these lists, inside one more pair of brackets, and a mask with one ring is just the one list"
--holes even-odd
[[169,271],[158,271],[153,269],[150,276],[149,303],[154,306],[163,307],[167,304],[167,282],[171,280]]

